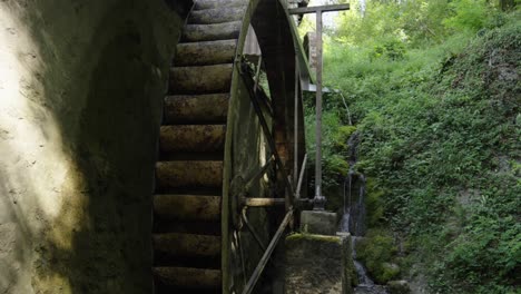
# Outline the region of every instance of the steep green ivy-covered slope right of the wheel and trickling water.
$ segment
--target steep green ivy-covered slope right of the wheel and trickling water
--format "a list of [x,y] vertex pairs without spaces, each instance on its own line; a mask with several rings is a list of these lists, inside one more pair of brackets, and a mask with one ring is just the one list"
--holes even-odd
[[370,178],[373,275],[391,262],[432,293],[521,293],[520,19],[429,49],[328,48],[326,80],[352,108]]

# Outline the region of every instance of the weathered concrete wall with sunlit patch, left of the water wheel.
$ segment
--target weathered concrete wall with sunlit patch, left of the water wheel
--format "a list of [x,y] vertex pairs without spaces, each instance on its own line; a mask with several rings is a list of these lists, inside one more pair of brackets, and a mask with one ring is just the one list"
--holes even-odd
[[0,293],[151,292],[180,27],[163,0],[0,1]]

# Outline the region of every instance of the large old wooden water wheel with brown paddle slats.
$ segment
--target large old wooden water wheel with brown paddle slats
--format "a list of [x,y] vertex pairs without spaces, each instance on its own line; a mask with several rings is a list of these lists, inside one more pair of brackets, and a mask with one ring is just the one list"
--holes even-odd
[[[299,155],[294,149],[299,94],[291,21],[276,0],[197,0],[188,14],[156,164],[156,293],[240,293],[284,215],[284,205],[249,208],[256,210],[247,231],[245,200],[289,209],[291,198],[276,199],[292,189],[287,177],[295,170],[288,167],[304,154],[299,107]],[[262,57],[248,63],[250,27]],[[268,91],[256,71],[265,72]]]

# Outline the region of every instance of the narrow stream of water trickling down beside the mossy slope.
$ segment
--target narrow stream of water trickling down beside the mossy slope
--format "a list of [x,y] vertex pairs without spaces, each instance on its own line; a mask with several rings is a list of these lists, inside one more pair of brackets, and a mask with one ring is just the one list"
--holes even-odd
[[350,233],[352,236],[353,263],[358,276],[358,285],[355,294],[386,294],[381,285],[376,285],[367,275],[364,265],[356,261],[356,242],[365,235],[365,176],[354,170],[356,164],[356,147],[358,134],[354,133],[348,141],[350,147],[350,171],[344,180],[344,214],[340,224],[340,231]]

